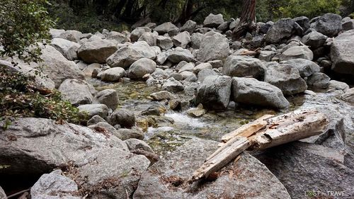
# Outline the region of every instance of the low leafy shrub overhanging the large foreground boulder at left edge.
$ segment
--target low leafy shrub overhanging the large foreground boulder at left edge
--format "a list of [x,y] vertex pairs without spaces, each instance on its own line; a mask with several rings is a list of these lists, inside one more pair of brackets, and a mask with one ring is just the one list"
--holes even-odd
[[[69,101],[63,101],[59,91],[38,91],[34,77],[0,70],[0,120],[10,117],[50,118],[80,123],[83,116]],[[6,122],[6,125],[10,125]]]

